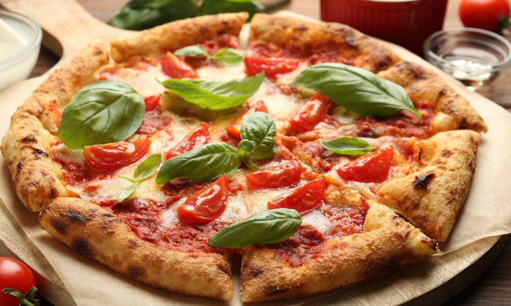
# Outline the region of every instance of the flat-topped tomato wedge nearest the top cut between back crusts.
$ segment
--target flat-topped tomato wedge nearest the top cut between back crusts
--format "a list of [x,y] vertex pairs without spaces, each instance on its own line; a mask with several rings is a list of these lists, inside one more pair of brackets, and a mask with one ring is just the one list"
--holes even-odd
[[298,60],[266,59],[257,57],[245,57],[246,73],[249,77],[264,71],[265,77],[274,79],[277,74],[288,73],[298,67]]

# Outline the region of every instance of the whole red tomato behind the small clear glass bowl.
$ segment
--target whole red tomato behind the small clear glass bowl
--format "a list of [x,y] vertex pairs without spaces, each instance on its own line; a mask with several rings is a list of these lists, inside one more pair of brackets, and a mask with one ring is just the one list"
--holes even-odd
[[461,0],[459,17],[465,27],[497,32],[500,18],[507,20],[507,0]]

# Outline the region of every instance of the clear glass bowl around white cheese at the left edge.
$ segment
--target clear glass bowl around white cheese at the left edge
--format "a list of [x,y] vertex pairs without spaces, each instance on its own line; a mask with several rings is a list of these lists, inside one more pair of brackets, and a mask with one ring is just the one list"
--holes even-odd
[[42,31],[31,18],[0,9],[0,18],[5,21],[27,45],[19,53],[0,61],[0,90],[13,83],[25,80],[37,62],[41,47]]

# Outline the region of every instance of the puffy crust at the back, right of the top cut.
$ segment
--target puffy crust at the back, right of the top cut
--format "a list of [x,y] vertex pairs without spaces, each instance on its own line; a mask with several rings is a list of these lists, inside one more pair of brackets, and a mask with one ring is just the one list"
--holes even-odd
[[339,23],[311,22],[286,16],[255,14],[250,22],[250,42],[271,42],[303,54],[333,45],[346,58],[361,56],[362,68],[378,72],[400,58],[392,50],[359,31]]

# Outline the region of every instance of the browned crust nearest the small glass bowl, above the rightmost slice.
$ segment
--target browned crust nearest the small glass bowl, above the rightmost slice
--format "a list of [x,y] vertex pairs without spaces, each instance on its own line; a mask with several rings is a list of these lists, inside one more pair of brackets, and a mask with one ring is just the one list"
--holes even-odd
[[486,123],[469,102],[430,69],[402,61],[381,71],[378,77],[403,86],[413,101],[429,101],[435,105],[436,116],[429,131],[431,135],[465,129],[488,131]]

